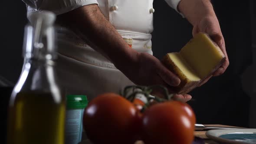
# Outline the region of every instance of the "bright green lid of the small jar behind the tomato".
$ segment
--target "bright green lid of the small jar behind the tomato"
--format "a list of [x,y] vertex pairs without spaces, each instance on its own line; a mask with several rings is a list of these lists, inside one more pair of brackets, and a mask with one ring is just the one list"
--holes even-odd
[[85,108],[88,105],[86,95],[67,95],[67,108]]

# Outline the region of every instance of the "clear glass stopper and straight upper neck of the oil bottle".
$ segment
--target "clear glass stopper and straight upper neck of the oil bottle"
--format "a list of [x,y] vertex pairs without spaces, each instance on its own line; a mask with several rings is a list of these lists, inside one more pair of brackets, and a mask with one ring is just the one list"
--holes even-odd
[[52,12],[33,12],[28,14],[31,25],[24,33],[24,53],[26,58],[56,59],[54,22],[56,15]]

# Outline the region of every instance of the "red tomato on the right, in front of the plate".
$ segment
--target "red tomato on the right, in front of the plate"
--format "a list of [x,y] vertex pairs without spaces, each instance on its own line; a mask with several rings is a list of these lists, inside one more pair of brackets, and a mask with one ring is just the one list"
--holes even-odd
[[191,144],[194,119],[188,115],[186,107],[190,108],[186,103],[168,101],[145,110],[141,134],[145,144]]

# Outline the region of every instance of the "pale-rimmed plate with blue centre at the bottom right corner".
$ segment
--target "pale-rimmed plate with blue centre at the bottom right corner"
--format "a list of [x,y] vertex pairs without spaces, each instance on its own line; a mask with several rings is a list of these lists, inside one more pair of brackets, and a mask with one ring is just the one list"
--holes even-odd
[[256,144],[256,129],[253,128],[210,130],[206,136],[221,144]]

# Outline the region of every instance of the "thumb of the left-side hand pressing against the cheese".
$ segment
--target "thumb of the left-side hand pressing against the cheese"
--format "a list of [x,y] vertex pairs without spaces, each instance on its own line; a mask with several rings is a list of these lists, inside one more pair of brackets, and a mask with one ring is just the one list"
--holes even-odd
[[161,69],[158,72],[158,75],[171,86],[178,86],[181,83],[181,80],[172,73],[169,69],[167,69],[164,65],[161,66]]

